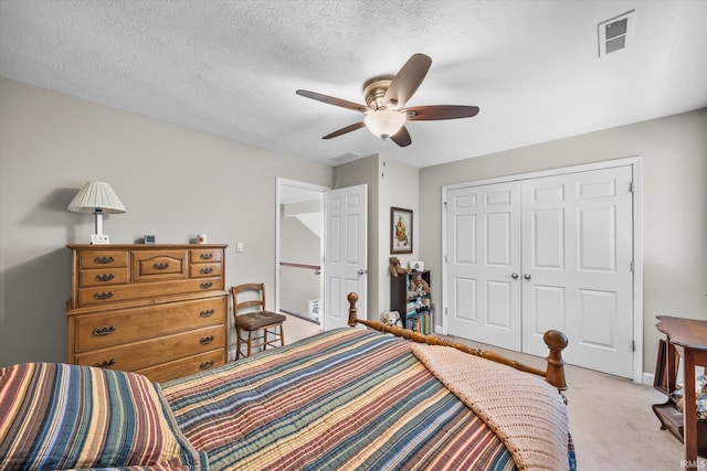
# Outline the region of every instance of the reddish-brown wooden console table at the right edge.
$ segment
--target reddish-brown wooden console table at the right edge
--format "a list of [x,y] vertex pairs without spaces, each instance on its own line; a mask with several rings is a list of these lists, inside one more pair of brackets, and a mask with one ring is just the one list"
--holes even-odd
[[[683,400],[683,443],[685,467],[697,469],[697,405],[695,404],[695,366],[707,366],[707,321],[658,315],[656,328],[667,335],[667,392],[675,390],[677,372],[675,352],[679,354],[685,371]],[[675,407],[655,405],[653,410],[661,419],[662,429],[676,433],[680,428],[676,421]],[[679,419],[678,419],[679,420]],[[678,437],[679,437],[679,432]]]

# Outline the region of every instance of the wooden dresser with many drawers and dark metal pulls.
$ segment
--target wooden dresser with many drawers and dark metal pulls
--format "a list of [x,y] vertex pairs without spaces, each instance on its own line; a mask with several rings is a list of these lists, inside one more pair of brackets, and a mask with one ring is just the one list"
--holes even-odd
[[67,247],[68,363],[165,382],[226,362],[226,245]]

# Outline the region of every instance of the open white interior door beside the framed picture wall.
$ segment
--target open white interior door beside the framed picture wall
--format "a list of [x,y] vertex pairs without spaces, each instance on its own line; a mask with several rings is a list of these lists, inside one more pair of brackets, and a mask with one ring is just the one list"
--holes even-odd
[[358,293],[358,315],[367,306],[367,192],[356,185],[331,190],[325,202],[324,330],[348,324],[349,292]]

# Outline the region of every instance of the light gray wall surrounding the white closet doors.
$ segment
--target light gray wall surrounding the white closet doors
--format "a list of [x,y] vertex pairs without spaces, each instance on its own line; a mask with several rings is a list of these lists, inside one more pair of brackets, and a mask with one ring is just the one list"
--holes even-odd
[[433,274],[442,272],[443,185],[641,156],[643,371],[653,373],[661,338],[656,315],[707,320],[706,140],[701,109],[421,169],[421,258]]

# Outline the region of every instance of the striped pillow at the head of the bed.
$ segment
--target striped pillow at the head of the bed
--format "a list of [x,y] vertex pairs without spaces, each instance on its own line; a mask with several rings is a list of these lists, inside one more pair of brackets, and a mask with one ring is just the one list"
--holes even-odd
[[56,363],[0,370],[0,469],[208,469],[157,384]]

